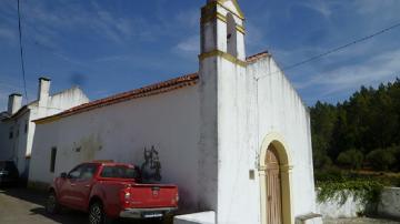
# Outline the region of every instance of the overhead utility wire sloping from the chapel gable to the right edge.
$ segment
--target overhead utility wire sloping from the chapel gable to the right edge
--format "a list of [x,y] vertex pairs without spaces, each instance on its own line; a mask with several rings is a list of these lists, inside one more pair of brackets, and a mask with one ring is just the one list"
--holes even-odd
[[[383,34],[383,33],[386,33],[386,32],[388,32],[388,31],[390,31],[390,30],[393,30],[393,29],[396,29],[396,28],[398,28],[398,27],[400,27],[400,22],[398,22],[398,23],[396,23],[396,24],[393,24],[393,26],[391,26],[391,27],[389,27],[389,28],[386,28],[386,29],[383,29],[383,30],[380,30],[380,31],[378,31],[378,32],[374,32],[374,33],[372,33],[372,34],[370,34],[370,35],[366,35],[366,37],[363,37],[363,38],[357,39],[357,40],[354,40],[354,41],[352,41],[352,42],[349,42],[349,43],[347,43],[347,44],[344,44],[344,45],[340,45],[340,47],[338,47],[338,48],[328,50],[327,52],[317,54],[317,55],[314,55],[314,57],[311,57],[311,58],[306,59],[306,60],[303,60],[303,61],[297,62],[297,63],[294,63],[294,64],[291,64],[291,65],[288,65],[288,67],[283,67],[283,68],[282,68],[282,71],[288,71],[288,70],[294,69],[294,68],[297,68],[297,67],[301,67],[301,65],[303,65],[303,64],[306,64],[306,63],[309,63],[309,62],[311,62],[311,61],[316,61],[316,60],[318,60],[318,59],[320,59],[320,58],[327,57],[327,55],[329,55],[329,54],[332,54],[332,53],[334,53],[334,52],[338,52],[338,51],[340,51],[340,50],[343,50],[343,49],[346,49],[346,48],[349,48],[349,47],[351,47],[351,45],[354,45],[354,44],[357,44],[357,43],[360,43],[360,42],[370,40],[370,39],[372,39],[372,38],[374,38],[374,37],[377,37],[377,35]],[[272,73],[277,73],[277,72],[280,72],[280,71],[271,72],[271,73],[269,73],[268,75],[270,75],[270,74],[272,74]],[[266,77],[266,75],[263,75],[263,77]],[[261,79],[261,78],[263,78],[263,77],[259,77],[259,78],[257,78],[257,80],[259,80],[259,79]]]

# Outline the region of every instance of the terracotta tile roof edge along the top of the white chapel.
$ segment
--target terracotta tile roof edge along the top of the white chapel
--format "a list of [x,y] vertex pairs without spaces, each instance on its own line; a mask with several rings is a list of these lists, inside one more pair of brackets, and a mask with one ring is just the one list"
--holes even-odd
[[[251,55],[249,58],[247,58],[247,62],[252,63],[258,61],[261,58],[268,57],[269,53],[266,52],[261,52],[254,55]],[[184,86],[190,86],[190,85],[194,85],[197,84],[199,81],[199,74],[198,73],[192,73],[192,74],[187,74],[183,77],[179,77],[176,79],[171,79],[164,82],[159,82],[156,84],[151,84],[144,88],[140,88],[140,89],[136,89],[136,90],[131,90],[128,92],[123,92],[123,93],[119,93],[116,95],[111,95],[104,99],[100,99],[100,100],[96,100],[89,103],[84,103],[81,105],[78,105],[76,108],[69,109],[67,111],[63,111],[61,113],[51,115],[51,116],[47,116],[43,119],[38,119],[33,122],[36,123],[47,123],[47,122],[51,122],[54,120],[58,120],[60,118],[66,118],[66,116],[70,116],[77,113],[82,113],[86,111],[91,111],[93,109],[98,109],[98,108],[102,108],[102,106],[107,106],[107,105],[111,105],[111,104],[116,104],[116,103],[120,103],[120,102],[124,102],[124,101],[129,101],[132,99],[138,99],[138,98],[144,98],[144,96],[149,96],[149,95],[156,95],[156,94],[161,94],[164,92],[169,92],[172,90],[177,90],[177,89],[181,89]]]

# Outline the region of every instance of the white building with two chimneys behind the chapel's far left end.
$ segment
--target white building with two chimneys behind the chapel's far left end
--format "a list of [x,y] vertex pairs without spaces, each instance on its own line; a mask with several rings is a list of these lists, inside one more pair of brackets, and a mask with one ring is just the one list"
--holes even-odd
[[9,95],[8,111],[0,113],[0,160],[14,161],[22,179],[28,179],[36,124],[33,120],[60,113],[89,99],[79,88],[50,95],[50,80],[39,79],[38,100],[22,106],[22,95]]

